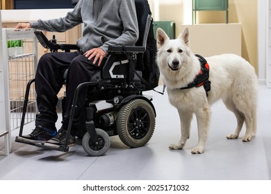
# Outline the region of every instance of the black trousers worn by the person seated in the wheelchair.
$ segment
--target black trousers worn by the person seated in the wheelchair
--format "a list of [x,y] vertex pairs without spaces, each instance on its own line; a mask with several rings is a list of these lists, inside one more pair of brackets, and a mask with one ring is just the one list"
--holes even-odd
[[[67,130],[69,124],[69,114],[76,87],[82,82],[88,82],[97,71],[100,71],[99,67],[93,65],[80,52],[56,52],[42,55],[38,62],[35,75],[35,90],[39,111],[35,120],[36,126],[55,127],[55,123],[58,120],[58,114],[56,113],[56,103],[58,103],[57,94],[63,86],[63,75],[66,69],[69,70],[66,82],[65,113],[62,121],[62,127],[65,130]],[[74,122],[79,120],[79,113],[85,102],[87,91],[86,89],[82,89],[81,91]]]

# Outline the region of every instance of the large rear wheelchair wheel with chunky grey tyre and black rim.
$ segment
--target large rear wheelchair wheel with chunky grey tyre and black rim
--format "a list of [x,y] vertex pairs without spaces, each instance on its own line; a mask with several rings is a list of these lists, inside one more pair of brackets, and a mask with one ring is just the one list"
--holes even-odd
[[131,148],[145,145],[151,139],[154,127],[154,109],[146,100],[131,100],[118,113],[117,134]]

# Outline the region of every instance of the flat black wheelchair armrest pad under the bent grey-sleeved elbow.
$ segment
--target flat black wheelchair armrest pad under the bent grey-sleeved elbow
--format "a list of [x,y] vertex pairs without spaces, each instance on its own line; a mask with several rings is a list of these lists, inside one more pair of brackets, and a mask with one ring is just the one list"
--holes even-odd
[[109,53],[145,53],[146,48],[144,46],[122,46],[122,45],[109,45]]

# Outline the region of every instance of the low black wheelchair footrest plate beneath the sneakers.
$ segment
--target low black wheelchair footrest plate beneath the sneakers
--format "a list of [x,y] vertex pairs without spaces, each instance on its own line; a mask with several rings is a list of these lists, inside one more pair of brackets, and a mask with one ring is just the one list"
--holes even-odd
[[31,139],[25,139],[21,136],[16,136],[15,141],[18,143],[25,143],[28,145],[35,145],[36,147],[39,148],[44,148],[47,150],[56,150],[56,151],[60,151],[60,152],[69,152],[69,147],[68,146],[64,146],[64,145],[56,145],[54,143],[46,143],[44,144],[44,142],[34,142],[31,141]]

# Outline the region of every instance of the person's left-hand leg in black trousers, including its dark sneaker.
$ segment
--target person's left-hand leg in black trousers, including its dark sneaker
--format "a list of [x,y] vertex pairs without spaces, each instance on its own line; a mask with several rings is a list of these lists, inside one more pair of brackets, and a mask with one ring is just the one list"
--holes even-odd
[[57,94],[63,85],[63,74],[69,63],[79,55],[75,53],[47,53],[38,62],[35,75],[35,90],[39,113],[35,120],[35,130],[23,136],[26,139],[47,141],[56,134],[55,123]]

